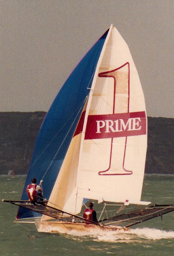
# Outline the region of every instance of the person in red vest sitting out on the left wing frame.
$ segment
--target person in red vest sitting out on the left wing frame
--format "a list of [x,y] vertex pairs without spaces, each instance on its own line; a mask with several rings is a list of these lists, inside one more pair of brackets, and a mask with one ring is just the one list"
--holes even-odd
[[[31,184],[27,186],[27,194],[29,196],[29,200],[34,204],[35,207],[36,207],[36,202],[38,198],[40,198],[40,200],[43,201],[42,189],[40,186],[36,184],[35,178],[32,178]],[[45,205],[44,203],[41,203],[41,204]]]

